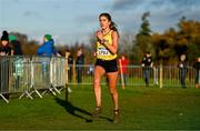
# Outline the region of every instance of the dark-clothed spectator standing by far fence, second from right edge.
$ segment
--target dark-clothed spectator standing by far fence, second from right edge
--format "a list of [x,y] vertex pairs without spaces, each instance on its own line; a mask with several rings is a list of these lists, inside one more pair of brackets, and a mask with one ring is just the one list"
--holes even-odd
[[179,61],[179,79],[181,83],[181,88],[186,89],[186,75],[187,75],[187,64],[186,64],[186,54],[180,56],[180,61]]

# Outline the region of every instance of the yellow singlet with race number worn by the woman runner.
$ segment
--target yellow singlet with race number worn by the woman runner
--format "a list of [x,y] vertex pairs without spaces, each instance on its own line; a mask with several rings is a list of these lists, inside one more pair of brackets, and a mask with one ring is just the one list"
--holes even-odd
[[[112,44],[112,32],[113,30],[110,30],[106,36],[103,36],[104,41],[109,44]],[[113,60],[117,58],[117,53],[111,53],[106,46],[97,41],[97,58],[101,60]]]

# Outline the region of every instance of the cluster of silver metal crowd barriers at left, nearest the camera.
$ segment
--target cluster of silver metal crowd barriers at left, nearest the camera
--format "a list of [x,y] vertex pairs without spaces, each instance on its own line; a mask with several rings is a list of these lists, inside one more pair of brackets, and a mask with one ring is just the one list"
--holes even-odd
[[57,57],[0,57],[0,98],[9,102],[11,93],[33,99],[50,91],[60,93],[67,84],[66,58]]

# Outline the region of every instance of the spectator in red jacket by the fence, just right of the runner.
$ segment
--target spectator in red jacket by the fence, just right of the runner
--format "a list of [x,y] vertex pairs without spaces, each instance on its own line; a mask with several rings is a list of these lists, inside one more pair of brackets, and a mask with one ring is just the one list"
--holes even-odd
[[127,79],[128,79],[128,64],[129,64],[129,60],[128,58],[126,58],[124,54],[121,56],[121,59],[119,59],[119,62],[121,62],[121,70],[120,73],[123,75],[123,81],[124,81],[124,85],[127,84]]

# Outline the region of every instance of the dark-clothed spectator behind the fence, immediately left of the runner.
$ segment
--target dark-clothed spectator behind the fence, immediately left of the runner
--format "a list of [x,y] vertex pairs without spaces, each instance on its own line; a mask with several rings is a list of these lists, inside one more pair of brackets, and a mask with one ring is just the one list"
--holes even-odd
[[82,52],[82,49],[79,48],[77,52],[77,82],[82,82],[82,73],[83,73],[83,64],[84,64],[84,54]]

